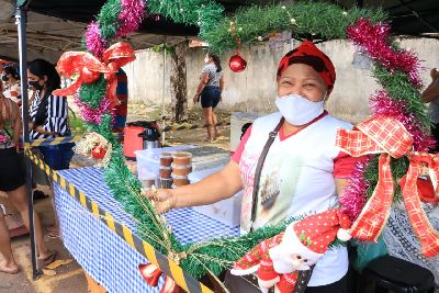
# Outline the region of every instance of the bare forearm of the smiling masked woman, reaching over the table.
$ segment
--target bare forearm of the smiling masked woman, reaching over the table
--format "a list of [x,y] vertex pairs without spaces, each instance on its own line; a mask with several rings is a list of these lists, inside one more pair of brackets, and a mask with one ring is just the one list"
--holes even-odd
[[161,189],[149,192],[148,198],[156,201],[158,213],[170,209],[204,205],[233,196],[243,189],[238,164],[230,162],[221,171],[200,182],[178,189]]

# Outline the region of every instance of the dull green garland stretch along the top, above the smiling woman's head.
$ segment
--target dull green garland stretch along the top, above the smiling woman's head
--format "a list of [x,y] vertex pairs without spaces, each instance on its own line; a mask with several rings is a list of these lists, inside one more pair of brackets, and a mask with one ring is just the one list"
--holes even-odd
[[[291,30],[297,38],[346,38],[346,29],[359,18],[369,18],[373,23],[384,21],[382,10],[357,9],[344,11],[340,7],[327,2],[302,1],[292,4],[250,7],[224,18],[211,30],[202,31],[205,40],[215,52],[236,47],[235,36],[241,44],[254,42],[258,36],[272,32]],[[230,31],[235,22],[235,32]]]

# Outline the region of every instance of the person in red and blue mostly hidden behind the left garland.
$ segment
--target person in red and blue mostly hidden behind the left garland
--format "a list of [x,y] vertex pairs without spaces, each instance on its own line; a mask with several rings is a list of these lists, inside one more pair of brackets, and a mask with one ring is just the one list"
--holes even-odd
[[115,117],[113,132],[123,133],[126,124],[126,116],[128,114],[128,78],[122,68],[119,69],[116,78],[116,97],[121,104],[114,108]]

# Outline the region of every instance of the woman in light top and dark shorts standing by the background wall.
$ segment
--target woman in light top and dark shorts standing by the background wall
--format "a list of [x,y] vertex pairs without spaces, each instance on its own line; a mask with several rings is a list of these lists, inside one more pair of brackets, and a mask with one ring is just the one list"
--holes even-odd
[[195,97],[193,97],[193,103],[200,101],[201,98],[201,106],[203,108],[205,126],[207,129],[206,140],[213,142],[219,136],[214,110],[221,100],[221,93],[224,89],[224,77],[221,60],[217,55],[207,53],[204,63],[205,65],[200,77],[200,83],[196,88]]

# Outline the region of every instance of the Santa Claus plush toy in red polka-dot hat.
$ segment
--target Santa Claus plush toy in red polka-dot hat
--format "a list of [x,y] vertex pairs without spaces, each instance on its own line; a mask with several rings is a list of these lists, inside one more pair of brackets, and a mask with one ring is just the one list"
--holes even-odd
[[349,218],[338,209],[305,217],[290,224],[284,233],[261,241],[235,261],[232,274],[255,273],[261,292],[274,286],[274,292],[291,293],[297,271],[309,270],[337,237],[350,239]]

